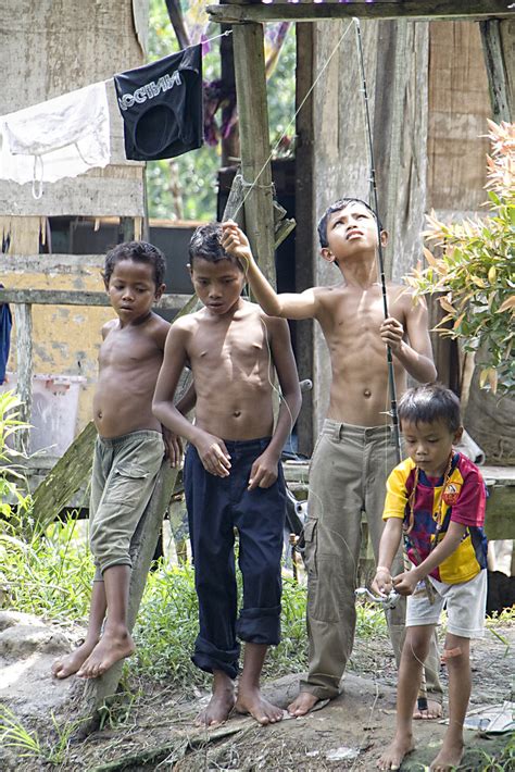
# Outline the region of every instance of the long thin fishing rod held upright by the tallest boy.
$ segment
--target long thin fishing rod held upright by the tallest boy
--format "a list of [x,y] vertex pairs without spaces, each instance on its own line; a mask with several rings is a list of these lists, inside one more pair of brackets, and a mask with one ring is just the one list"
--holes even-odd
[[[366,76],[365,76],[365,61],[363,57],[363,43],[362,43],[362,37],[361,37],[361,26],[360,26],[360,20],[354,18],[353,20],[355,29],[356,29],[356,36],[357,36],[357,52],[360,55],[360,67],[361,67],[361,75],[362,75],[362,80],[363,80],[363,96],[364,96],[364,101],[365,101],[365,124],[366,124],[366,133],[367,133],[367,138],[368,138],[368,152],[369,152],[369,158],[370,158],[370,190],[372,190],[372,197],[373,197],[373,210],[376,215],[376,225],[377,225],[377,262],[378,262],[378,267],[379,267],[379,277],[380,277],[380,285],[381,285],[381,294],[382,294],[382,308],[385,311],[385,319],[389,317],[388,313],[388,296],[387,296],[387,288],[386,288],[386,275],[385,275],[385,259],[382,254],[382,244],[381,244],[381,227],[379,223],[379,203],[378,203],[378,198],[377,198],[377,185],[376,185],[376,169],[375,169],[375,162],[374,162],[374,145],[372,141],[372,127],[370,127],[370,113],[368,109],[368,91],[366,87]],[[391,348],[390,346],[387,346],[387,364],[388,364],[388,384],[389,384],[389,389],[390,389],[390,411],[389,415],[391,419],[391,426],[393,431],[393,443],[395,445],[395,452],[397,452],[397,462],[401,462],[401,433],[399,428],[399,413],[397,410],[397,388],[395,388],[395,377],[394,377],[394,371],[393,371],[393,358],[391,353]]]

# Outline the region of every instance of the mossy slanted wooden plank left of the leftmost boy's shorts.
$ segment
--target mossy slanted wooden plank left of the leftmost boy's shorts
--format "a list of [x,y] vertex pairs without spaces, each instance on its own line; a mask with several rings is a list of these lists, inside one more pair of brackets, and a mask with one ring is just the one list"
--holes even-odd
[[34,491],[33,515],[45,528],[89,482],[97,429],[90,421]]

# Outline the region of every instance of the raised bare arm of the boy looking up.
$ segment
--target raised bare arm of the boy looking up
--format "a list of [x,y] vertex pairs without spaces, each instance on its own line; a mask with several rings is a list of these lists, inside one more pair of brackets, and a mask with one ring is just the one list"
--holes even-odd
[[238,258],[243,266],[250,288],[261,308],[269,316],[284,319],[313,319],[316,316],[317,299],[313,289],[304,292],[281,292],[278,295],[260,271],[250,248],[249,239],[230,220],[223,224],[222,246],[229,254]]

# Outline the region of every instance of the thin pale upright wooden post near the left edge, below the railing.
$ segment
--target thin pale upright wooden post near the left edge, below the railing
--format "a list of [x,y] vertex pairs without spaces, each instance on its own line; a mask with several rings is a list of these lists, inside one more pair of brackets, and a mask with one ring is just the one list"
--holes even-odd
[[[30,303],[20,303],[14,308],[16,325],[16,391],[23,404],[20,410],[22,421],[30,423],[33,408],[33,307]],[[30,429],[16,432],[15,444],[20,451],[29,452]]]

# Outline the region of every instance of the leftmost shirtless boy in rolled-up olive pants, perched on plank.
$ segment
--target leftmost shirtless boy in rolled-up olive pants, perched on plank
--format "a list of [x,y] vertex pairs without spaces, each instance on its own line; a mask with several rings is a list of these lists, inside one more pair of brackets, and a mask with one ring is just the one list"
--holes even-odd
[[[73,673],[95,678],[135,649],[127,628],[131,556],[165,452],[152,396],[169,324],[151,310],[165,289],[164,272],[162,252],[145,241],[121,244],[105,257],[105,289],[117,319],[102,328],[93,398],[99,436],[90,546],[97,572],[86,639],[54,662],[58,678]],[[167,450],[177,462],[177,443],[167,444]]]

